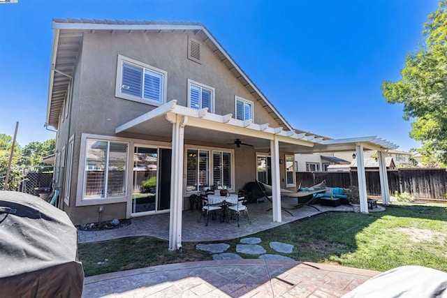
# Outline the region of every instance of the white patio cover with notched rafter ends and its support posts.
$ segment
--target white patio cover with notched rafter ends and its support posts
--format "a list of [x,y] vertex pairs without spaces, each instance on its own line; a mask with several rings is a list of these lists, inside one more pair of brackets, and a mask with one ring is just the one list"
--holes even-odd
[[[270,151],[272,158],[272,217],[281,222],[281,193],[279,174],[279,151],[291,153],[313,153],[334,151],[356,151],[359,165],[363,165],[363,148],[378,151],[381,165],[381,186],[388,190],[384,150],[397,146],[381,138],[356,137],[332,140],[302,131],[284,131],[283,127],[270,127],[269,124],[255,124],[251,120],[237,120],[233,114],[219,115],[208,109],[193,110],[177,105],[177,100],[156,107],[154,110],[136,117],[126,124],[115,128],[115,133],[137,133],[164,138],[171,142],[173,151],[171,170],[171,207],[170,207],[170,250],[181,248],[182,238],[182,198],[183,198],[183,158],[184,142],[205,142],[232,144],[236,139],[254,145],[258,151]],[[224,145],[225,146],[225,145]],[[233,146],[233,145],[228,145]],[[383,161],[382,161],[383,158]],[[383,169],[385,171],[383,172]],[[358,168],[360,188],[360,209],[367,213],[365,167]],[[389,193],[383,193],[389,198]]]

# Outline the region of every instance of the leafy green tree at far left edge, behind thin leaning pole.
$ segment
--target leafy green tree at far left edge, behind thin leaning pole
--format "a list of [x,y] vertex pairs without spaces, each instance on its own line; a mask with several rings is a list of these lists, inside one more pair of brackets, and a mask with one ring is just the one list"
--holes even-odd
[[[3,185],[5,183],[6,172],[8,170],[8,163],[11,153],[11,148],[13,147],[13,137],[0,133],[0,188],[3,190]],[[15,143],[15,149],[13,154],[13,160],[11,162],[11,170],[9,176],[8,189],[14,190],[18,186],[20,179],[20,168],[19,161],[22,157],[22,149],[17,142]]]

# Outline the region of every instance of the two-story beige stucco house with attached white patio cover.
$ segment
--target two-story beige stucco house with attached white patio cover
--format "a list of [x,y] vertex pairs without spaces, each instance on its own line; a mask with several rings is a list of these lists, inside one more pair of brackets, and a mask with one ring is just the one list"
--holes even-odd
[[187,198],[206,186],[237,193],[267,181],[281,221],[295,153],[395,148],[295,131],[202,24],[54,19],[52,28],[54,186],[75,224],[98,211],[104,221],[170,212],[174,250]]

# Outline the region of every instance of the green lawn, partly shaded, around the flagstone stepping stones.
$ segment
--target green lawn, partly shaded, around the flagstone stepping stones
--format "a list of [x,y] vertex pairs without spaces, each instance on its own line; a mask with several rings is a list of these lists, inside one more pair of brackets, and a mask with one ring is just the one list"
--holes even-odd
[[[293,244],[284,254],[298,261],[386,271],[403,265],[421,265],[447,271],[447,210],[445,204],[397,203],[378,213],[330,212],[251,235],[268,243]],[[236,253],[240,239],[225,241]],[[221,242],[221,241],[219,241]],[[212,260],[184,242],[179,253],[169,252],[168,241],[129,237],[79,245],[85,276],[177,262]],[[257,258],[241,255],[242,258]],[[106,260],[107,259],[107,260]]]

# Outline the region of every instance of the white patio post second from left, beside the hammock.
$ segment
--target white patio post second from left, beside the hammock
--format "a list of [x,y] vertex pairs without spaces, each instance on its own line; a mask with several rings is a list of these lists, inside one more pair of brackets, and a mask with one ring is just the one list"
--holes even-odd
[[281,178],[279,176],[279,142],[277,136],[270,141],[272,158],[272,213],[273,221],[281,223]]

